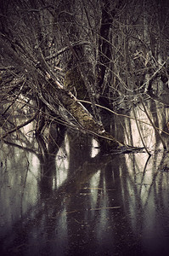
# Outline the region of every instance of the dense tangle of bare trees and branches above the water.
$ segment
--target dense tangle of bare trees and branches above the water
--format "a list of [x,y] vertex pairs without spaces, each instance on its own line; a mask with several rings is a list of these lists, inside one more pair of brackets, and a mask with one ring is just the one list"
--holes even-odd
[[114,140],[108,113],[140,102],[147,113],[149,97],[169,106],[167,0],[2,0],[0,10],[1,138],[35,120],[58,144],[66,127]]

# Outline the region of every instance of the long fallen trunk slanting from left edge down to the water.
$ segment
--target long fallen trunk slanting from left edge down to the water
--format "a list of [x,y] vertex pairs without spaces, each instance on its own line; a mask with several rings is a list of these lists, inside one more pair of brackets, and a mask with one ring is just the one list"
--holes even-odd
[[[2,41],[0,42],[3,50],[8,49],[8,57],[13,60],[13,68],[15,67],[16,69],[20,70],[22,75],[24,74],[25,76],[29,76],[29,79],[31,77],[31,87],[37,92],[38,98],[42,101],[46,108],[48,108],[53,114],[59,114],[59,107],[65,108],[69,116],[76,122],[76,129],[108,140],[109,144],[113,148],[122,146],[122,143],[119,143],[114,137],[112,137],[112,135],[104,131],[103,125],[100,125],[93,118],[93,115],[88,112],[87,108],[85,108],[81,102],[77,101],[76,97],[70,92],[70,90],[65,89],[64,86],[59,84],[57,80],[52,79],[46,71],[44,72],[44,76],[42,76],[42,67],[33,67],[33,65],[30,65],[30,63],[26,63],[14,52],[13,49],[8,48],[7,43]],[[48,72],[50,72],[49,69]],[[4,82],[3,79],[2,82]],[[25,88],[23,88],[22,93],[25,95]],[[61,119],[64,118],[65,117],[62,115]],[[35,119],[35,117],[31,118],[31,121],[33,119]],[[30,120],[26,121],[23,125],[14,127],[14,129],[10,131],[6,131],[1,138],[7,137],[8,134],[19,130],[29,122]]]

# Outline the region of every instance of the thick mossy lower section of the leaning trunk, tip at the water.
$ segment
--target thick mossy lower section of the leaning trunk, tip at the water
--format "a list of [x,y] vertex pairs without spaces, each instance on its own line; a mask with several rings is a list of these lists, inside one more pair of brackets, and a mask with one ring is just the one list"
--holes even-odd
[[[48,108],[54,112],[54,102],[47,102],[48,95],[52,96],[57,102],[60,102],[62,107],[76,120],[77,128],[83,132],[93,134],[94,136],[105,139],[112,148],[117,148],[123,144],[115,140],[112,135],[104,131],[104,127],[99,125],[93,118],[93,115],[87,111],[81,102],[78,102],[69,90],[64,89],[57,81],[51,80],[46,83],[44,89],[47,93],[39,92],[39,97]],[[44,96],[42,96],[42,94]],[[46,97],[46,99],[45,99]]]

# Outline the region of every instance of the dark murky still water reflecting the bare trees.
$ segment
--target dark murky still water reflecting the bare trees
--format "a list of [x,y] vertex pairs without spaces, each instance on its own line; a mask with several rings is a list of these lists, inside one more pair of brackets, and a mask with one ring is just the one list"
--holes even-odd
[[[151,157],[99,154],[88,137],[66,136],[48,157],[32,138],[1,143],[0,255],[168,255],[169,155],[141,111]],[[120,121],[119,137],[142,146],[134,120]]]

